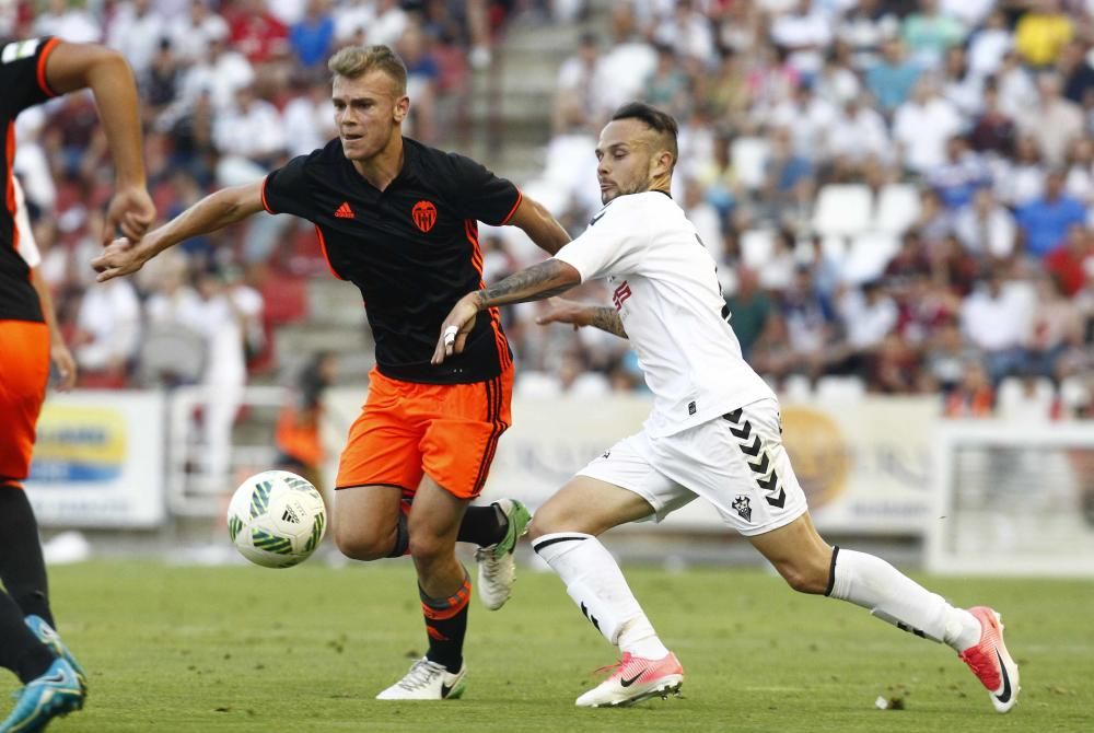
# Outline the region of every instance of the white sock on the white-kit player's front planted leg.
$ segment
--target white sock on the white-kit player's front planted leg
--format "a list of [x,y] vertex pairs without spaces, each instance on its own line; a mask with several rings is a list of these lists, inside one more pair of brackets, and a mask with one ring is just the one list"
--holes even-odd
[[605,639],[636,656],[659,660],[668,654],[601,540],[559,532],[539,537],[532,548],[558,573],[566,592]]

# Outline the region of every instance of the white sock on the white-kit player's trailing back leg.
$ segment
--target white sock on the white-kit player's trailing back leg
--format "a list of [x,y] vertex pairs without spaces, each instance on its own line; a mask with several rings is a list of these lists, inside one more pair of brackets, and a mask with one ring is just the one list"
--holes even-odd
[[835,548],[826,595],[869,608],[877,618],[963,652],[980,640],[980,621],[903,574],[885,560]]

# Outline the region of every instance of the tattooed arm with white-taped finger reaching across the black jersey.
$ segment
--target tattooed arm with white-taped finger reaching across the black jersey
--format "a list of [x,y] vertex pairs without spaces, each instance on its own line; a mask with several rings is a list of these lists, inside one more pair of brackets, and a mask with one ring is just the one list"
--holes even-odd
[[433,350],[434,364],[445,357],[459,353],[467,342],[467,335],[475,327],[475,316],[479,311],[496,305],[542,301],[581,284],[581,274],[569,263],[548,259],[513,272],[508,278],[459,299],[441,326],[441,337]]

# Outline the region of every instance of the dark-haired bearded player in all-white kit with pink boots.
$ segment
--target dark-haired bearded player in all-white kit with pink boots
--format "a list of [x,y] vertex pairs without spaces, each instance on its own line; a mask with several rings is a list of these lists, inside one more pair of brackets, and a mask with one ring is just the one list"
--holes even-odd
[[642,430],[582,468],[536,513],[535,551],[622,659],[581,707],[630,705],[679,689],[684,670],[657,638],[601,533],[660,521],[696,497],[771,562],[791,587],[869,608],[916,636],[952,647],[999,712],[1019,670],[991,608],[956,608],[872,555],[817,534],[782,444],[779,403],[741,357],[714,260],[668,195],[676,123],[645,104],[621,107],[601,132],[604,208],[556,255],[469,293],[445,319],[433,359],[459,352],[475,315],[607,278],[613,305],[557,300],[540,323],[595,326],[629,338],[654,405]]

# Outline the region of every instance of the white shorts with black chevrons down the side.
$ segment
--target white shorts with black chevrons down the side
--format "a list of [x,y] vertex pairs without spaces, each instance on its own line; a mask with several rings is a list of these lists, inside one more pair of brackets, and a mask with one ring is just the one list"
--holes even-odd
[[790,524],[807,509],[782,444],[779,404],[761,399],[665,438],[625,438],[578,472],[633,491],[660,522],[696,497],[745,536]]

